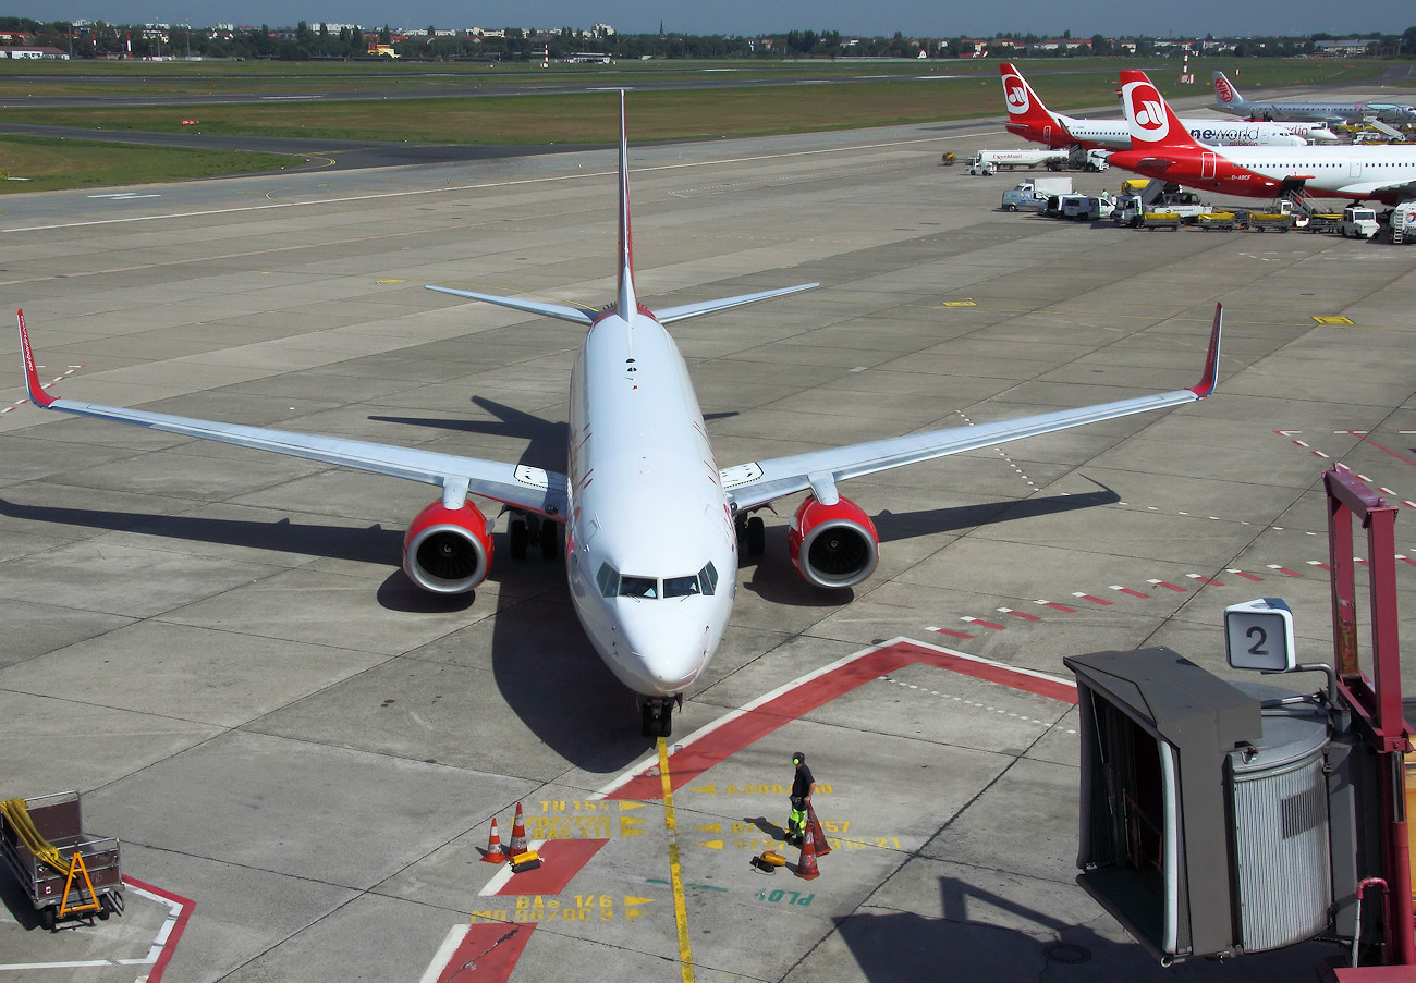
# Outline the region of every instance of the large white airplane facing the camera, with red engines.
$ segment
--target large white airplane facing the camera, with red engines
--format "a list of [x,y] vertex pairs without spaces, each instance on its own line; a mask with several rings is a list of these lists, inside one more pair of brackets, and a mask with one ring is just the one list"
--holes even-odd
[[684,690],[708,665],[728,627],[738,587],[739,536],[750,554],[762,553],[763,523],[755,511],[810,492],[787,533],[792,562],[811,584],[851,587],[875,570],[879,539],[869,516],[837,491],[838,482],[1189,403],[1208,396],[1218,379],[1222,311],[1216,306],[1204,376],[1189,389],[719,468],[688,369],[664,325],[818,284],[657,313],[644,307],[634,290],[623,93],[619,195],[619,289],[615,303],[603,310],[428,287],[586,328],[571,373],[565,474],[59,399],[40,383],[20,313],[30,400],[48,410],[440,485],[440,501],[413,519],[404,539],[404,570],[429,591],[472,591],[487,576],[491,523],[467,501],[469,494],[513,512],[513,554],[518,542],[525,549],[528,519],[542,545],[555,543],[559,525],[565,525],[566,578],[576,615],[610,672],[639,694],[643,731],[653,737],[670,733],[673,704],[683,704]]

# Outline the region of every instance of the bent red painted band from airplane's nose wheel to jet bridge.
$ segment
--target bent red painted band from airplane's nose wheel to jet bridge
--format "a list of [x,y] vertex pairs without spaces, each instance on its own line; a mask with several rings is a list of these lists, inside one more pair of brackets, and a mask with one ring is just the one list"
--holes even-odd
[[[1035,676],[1021,669],[1001,666],[993,662],[966,658],[953,652],[925,648],[913,642],[895,642],[874,649],[844,665],[821,673],[816,679],[789,686],[783,693],[760,706],[743,710],[736,717],[714,727],[702,737],[680,750],[674,757],[670,782],[677,792],[684,785],[698,781],[709,768],[726,761],[738,751],[762,740],[783,724],[799,720],[831,700],[850,693],[864,683],[886,676],[905,666],[923,663],[936,669],[947,669],[964,676],[1000,683],[1012,689],[1027,690],[1037,696],[1076,704],[1076,686],[1044,676]],[[646,765],[644,772],[629,779],[606,793],[607,799],[654,801],[663,798],[663,785],[657,764]]]

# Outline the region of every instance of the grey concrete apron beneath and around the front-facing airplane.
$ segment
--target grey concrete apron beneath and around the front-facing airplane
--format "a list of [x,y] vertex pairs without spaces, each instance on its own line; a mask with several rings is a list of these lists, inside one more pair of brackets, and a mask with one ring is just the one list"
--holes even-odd
[[[504,520],[476,597],[430,600],[399,547],[433,489],[42,413],[6,334],[0,798],[81,789],[130,878],[48,933],[0,876],[6,976],[1313,979],[1335,948],[1163,970],[1075,884],[1062,659],[1239,679],[1222,610],[1255,597],[1331,658],[1323,471],[1400,504],[1416,556],[1416,250],[1004,214],[1021,175],[939,164],[1012,143],[632,147],[647,304],[823,283],[675,325],[721,465],[1188,386],[1225,304],[1204,402],[843,487],[882,539],[844,595],[796,576],[782,502],[667,760]],[[579,332],[422,286],[606,303],[609,151],[0,204],[58,395],[561,467]],[[1416,564],[1398,595],[1410,638]],[[811,881],[748,863],[797,750]],[[547,863],[508,876],[480,857],[518,802]]]

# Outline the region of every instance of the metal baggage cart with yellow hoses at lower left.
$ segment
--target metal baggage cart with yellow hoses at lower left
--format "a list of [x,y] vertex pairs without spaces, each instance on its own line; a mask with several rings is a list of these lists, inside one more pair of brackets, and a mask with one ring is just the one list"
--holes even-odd
[[123,911],[118,840],[88,836],[78,792],[11,799],[0,809],[0,854],[40,924],[68,914],[108,918]]

